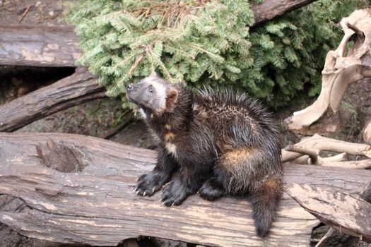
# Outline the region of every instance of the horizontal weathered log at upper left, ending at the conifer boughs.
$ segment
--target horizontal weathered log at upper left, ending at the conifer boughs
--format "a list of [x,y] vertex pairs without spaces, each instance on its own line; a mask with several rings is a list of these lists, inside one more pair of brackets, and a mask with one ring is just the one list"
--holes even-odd
[[0,65],[75,66],[81,56],[72,26],[0,26]]

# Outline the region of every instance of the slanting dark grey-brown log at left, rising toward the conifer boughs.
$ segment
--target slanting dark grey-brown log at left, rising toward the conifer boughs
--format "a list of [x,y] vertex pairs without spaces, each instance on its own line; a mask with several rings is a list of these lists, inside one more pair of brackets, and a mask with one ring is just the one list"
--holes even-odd
[[78,68],[72,76],[0,105],[0,131],[16,131],[54,112],[104,96],[96,78]]

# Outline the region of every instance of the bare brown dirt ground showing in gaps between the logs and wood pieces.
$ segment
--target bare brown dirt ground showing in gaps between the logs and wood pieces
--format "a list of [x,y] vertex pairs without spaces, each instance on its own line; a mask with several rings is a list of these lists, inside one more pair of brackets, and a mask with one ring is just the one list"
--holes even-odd
[[[55,0],[0,0],[0,25],[65,25],[63,6],[61,1]],[[37,67],[0,67],[0,104],[9,102],[16,97],[27,94],[37,88],[71,75],[74,68],[37,68]],[[339,121],[338,133],[334,138],[361,143],[361,130],[368,119],[371,119],[371,80],[354,83],[348,88],[341,104],[336,121]],[[314,102],[314,98],[307,97],[306,92],[293,100],[290,107],[275,112],[277,124],[281,128],[282,147],[296,143],[302,136],[285,131],[283,119],[295,111],[305,108]],[[108,131],[124,121],[124,112],[118,99],[104,98],[71,107],[64,111],[47,116],[16,132],[60,132],[77,133],[102,137]],[[110,140],[153,149],[155,147],[146,127],[141,121],[134,121],[118,131]],[[25,205],[21,200],[7,195],[0,195],[0,210],[21,211]],[[322,227],[322,231],[324,228]],[[321,232],[321,231],[318,231]],[[314,234],[314,242],[320,234]],[[166,241],[163,239],[141,239],[141,246],[187,246],[186,243]],[[0,223],[0,247],[8,246],[67,246],[38,241],[20,236],[6,225]],[[188,244],[188,246],[194,246]]]

